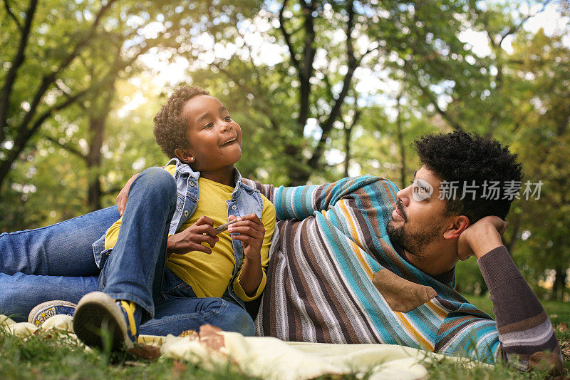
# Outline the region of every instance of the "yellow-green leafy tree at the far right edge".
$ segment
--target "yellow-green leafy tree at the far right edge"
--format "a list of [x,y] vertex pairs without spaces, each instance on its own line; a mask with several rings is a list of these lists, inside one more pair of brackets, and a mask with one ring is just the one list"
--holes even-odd
[[514,98],[519,109],[511,131],[517,138],[527,180],[541,182],[539,199],[535,194],[522,202],[519,239],[524,240],[517,245],[535,277],[544,276],[545,269],[554,269],[553,295],[559,299],[568,282],[570,262],[570,197],[566,190],[570,175],[570,48],[564,46],[563,36],[549,37],[542,30],[534,35],[519,34],[509,57],[512,76],[519,78],[515,88],[519,96]]

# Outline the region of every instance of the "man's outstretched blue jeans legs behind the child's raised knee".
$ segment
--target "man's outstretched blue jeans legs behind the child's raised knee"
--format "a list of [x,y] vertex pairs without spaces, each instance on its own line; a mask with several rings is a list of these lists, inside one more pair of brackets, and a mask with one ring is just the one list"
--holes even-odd
[[37,304],[77,303],[97,290],[93,242],[118,220],[117,207],[0,235],[0,313],[25,321]]

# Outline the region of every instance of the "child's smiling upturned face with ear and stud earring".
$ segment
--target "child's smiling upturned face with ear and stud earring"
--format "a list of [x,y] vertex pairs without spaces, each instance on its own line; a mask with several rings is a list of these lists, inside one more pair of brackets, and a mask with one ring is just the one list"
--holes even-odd
[[215,171],[242,158],[242,128],[229,115],[222,102],[199,95],[186,102],[182,115],[188,120],[188,148],[175,153],[193,170]]

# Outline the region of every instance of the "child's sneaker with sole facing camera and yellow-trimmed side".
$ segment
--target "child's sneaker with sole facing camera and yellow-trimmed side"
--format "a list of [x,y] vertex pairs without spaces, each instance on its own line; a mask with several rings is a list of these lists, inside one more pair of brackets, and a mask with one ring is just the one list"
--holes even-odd
[[88,346],[103,349],[110,339],[111,351],[130,349],[138,339],[141,309],[135,302],[115,300],[103,292],[90,292],[77,304],[73,331]]

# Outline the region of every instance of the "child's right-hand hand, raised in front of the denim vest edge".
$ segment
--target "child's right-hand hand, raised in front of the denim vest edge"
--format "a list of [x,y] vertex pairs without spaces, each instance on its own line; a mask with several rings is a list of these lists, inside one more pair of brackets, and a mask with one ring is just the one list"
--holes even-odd
[[[234,215],[229,215],[228,220],[234,220]],[[244,245],[244,255],[248,259],[261,260],[261,245],[265,236],[265,227],[259,217],[255,214],[249,214],[244,217],[238,217],[237,222],[227,227],[232,239],[239,240]]]

